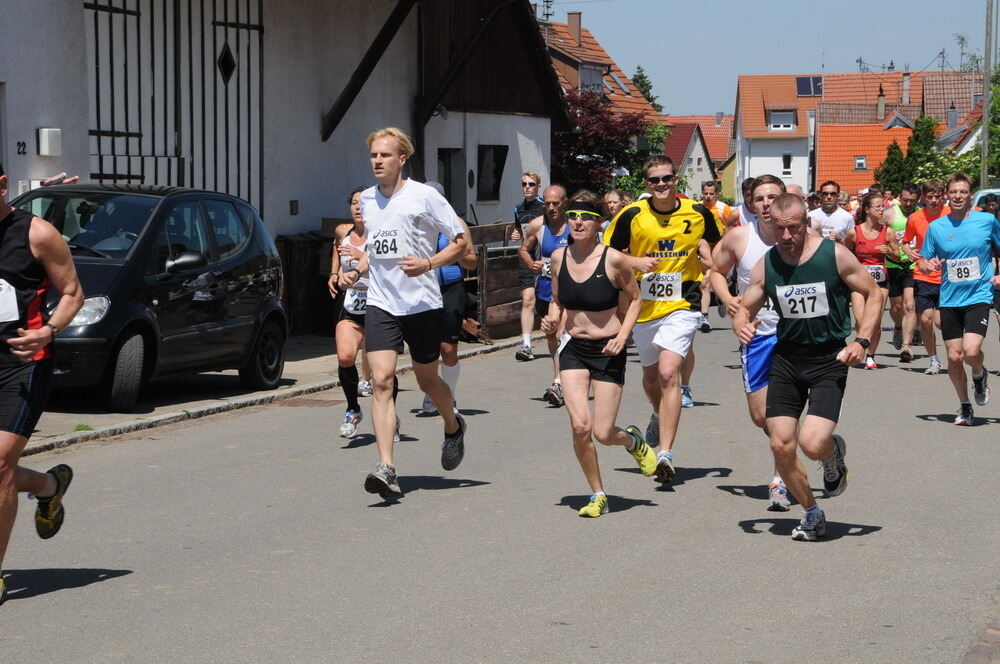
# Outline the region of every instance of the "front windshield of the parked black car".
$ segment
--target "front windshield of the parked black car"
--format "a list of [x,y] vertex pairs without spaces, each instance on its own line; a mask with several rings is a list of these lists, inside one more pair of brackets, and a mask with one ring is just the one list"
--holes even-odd
[[122,258],[159,198],[113,192],[32,192],[17,207],[59,229],[77,256]]

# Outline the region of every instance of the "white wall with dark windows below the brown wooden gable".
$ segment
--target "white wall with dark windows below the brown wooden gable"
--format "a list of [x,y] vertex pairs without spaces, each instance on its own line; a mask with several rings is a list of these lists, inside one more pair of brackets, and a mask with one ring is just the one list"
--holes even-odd
[[[514,206],[523,200],[521,173],[533,171],[541,176],[543,187],[550,184],[550,136],[548,118],[449,112],[447,119],[435,116],[427,123],[424,168],[427,178],[433,179],[437,173],[438,148],[464,149],[465,169],[455,184],[465,187],[465,205],[462,205],[460,196],[452,196],[452,204],[456,206],[459,215],[470,222],[478,219],[480,224],[499,220],[512,221]],[[507,145],[510,148],[501,178],[499,201],[476,200],[480,145]],[[471,187],[467,180],[470,170],[475,175]],[[470,206],[475,207],[475,215]],[[458,209],[460,207],[463,209]]]

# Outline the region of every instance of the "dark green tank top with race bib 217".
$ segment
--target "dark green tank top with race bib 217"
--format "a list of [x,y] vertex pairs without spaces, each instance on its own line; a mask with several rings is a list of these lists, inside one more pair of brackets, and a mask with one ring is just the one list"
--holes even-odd
[[851,334],[851,289],[837,272],[836,245],[820,242],[801,265],[782,260],[777,247],[765,254],[764,289],[778,312],[778,342],[836,346]]

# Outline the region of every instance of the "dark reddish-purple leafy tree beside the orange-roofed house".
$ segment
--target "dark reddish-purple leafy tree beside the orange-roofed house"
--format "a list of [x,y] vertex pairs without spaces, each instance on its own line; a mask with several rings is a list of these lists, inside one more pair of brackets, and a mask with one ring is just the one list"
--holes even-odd
[[642,113],[616,113],[603,94],[589,90],[570,90],[565,99],[575,127],[552,137],[553,182],[565,184],[570,193],[580,187],[600,193],[615,169],[641,168],[645,155],[634,139],[650,131]]

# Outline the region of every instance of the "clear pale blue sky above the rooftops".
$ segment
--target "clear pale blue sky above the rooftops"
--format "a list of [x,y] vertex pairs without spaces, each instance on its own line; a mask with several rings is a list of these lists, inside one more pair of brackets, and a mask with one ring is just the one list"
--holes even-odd
[[[532,0],[539,7],[543,0]],[[642,65],[671,115],[731,114],[740,74],[823,74],[959,67],[954,33],[980,55],[987,0],[554,0],[552,20],[583,12],[631,76]],[[541,11],[541,9],[539,9]],[[994,11],[996,17],[997,12]],[[994,43],[997,41],[994,29]],[[994,59],[994,64],[996,60]]]

